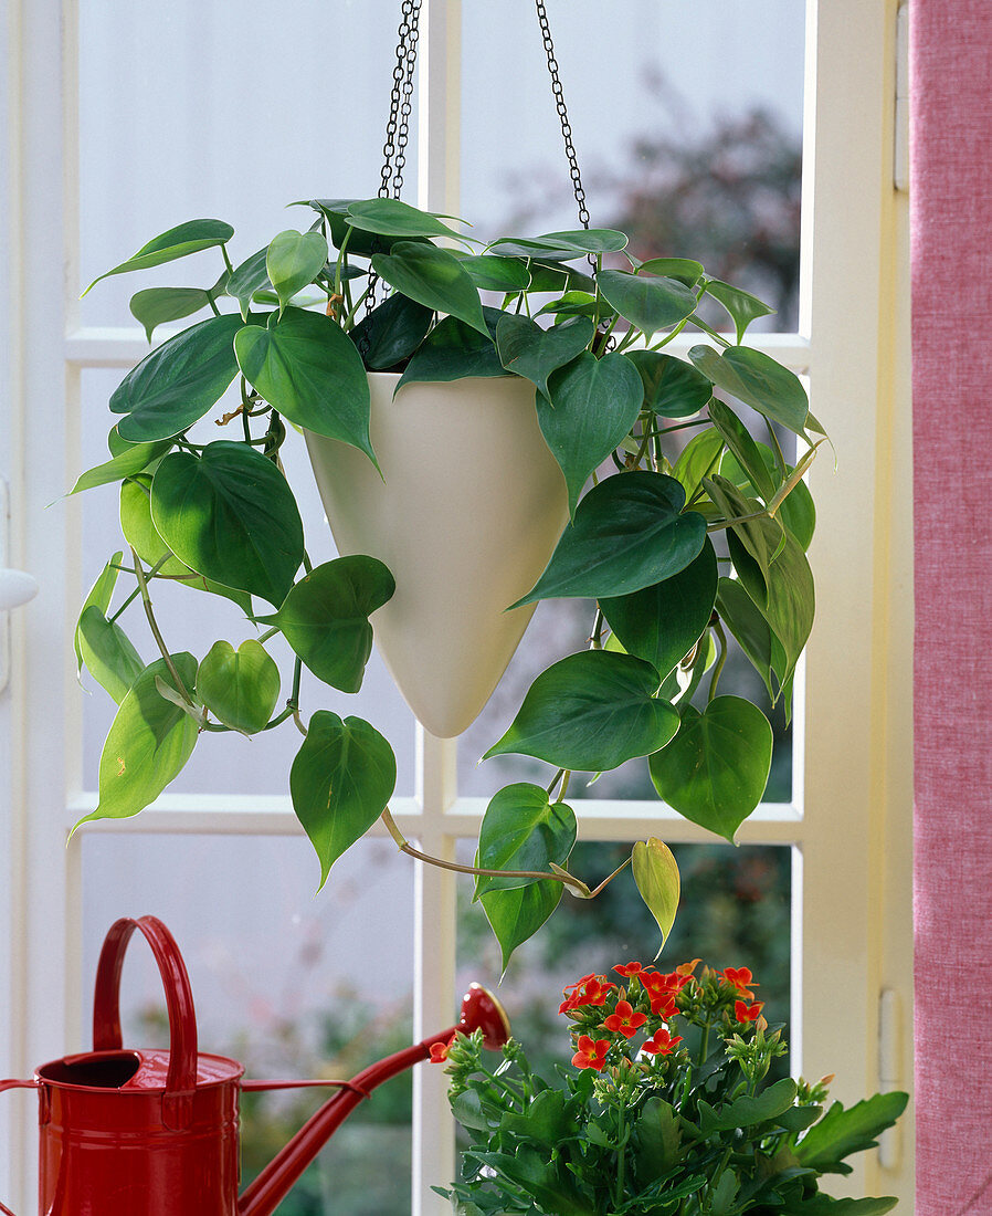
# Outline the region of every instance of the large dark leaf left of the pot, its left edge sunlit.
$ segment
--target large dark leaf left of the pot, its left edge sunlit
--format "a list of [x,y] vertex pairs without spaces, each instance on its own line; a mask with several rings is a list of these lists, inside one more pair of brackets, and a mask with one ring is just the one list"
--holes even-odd
[[247,444],[170,452],[152,482],[152,520],[198,574],[281,604],[303,561],[303,523],[276,466]]

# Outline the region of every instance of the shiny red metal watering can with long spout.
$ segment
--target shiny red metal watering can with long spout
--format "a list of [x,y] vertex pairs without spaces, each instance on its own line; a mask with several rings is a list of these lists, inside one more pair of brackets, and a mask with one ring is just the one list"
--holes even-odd
[[[124,1051],[119,991],[135,929],[152,947],[169,1012],[169,1051]],[[96,972],[94,1049],[43,1064],[30,1081],[0,1090],[39,1096],[40,1216],[267,1216],[331,1135],[370,1091],[427,1059],[456,1030],[479,1029],[501,1047],[509,1025],[498,1002],[473,984],[461,1020],[389,1055],[351,1081],[243,1081],[244,1068],[197,1051],[196,1012],[182,956],[154,917],[112,925]],[[331,1085],[339,1092],[238,1197],[238,1098],[246,1090]],[[13,1216],[0,1204],[0,1211]]]

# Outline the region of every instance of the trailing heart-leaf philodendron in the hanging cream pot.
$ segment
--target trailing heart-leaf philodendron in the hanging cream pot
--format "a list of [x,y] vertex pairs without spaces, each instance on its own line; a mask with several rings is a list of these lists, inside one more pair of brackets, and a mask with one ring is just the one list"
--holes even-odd
[[[641,263],[627,238],[607,229],[481,248],[445,218],[395,199],[300,206],[315,213],[309,231],[281,232],[244,260],[229,250],[230,225],[193,220],[108,271],[201,250],[222,264],[212,286],[152,287],[133,298],[150,340],[162,323],[207,316],[124,377],[109,402],[111,458],[73,491],[119,483],[125,540],[75,636],[80,669],[119,705],[89,817],[136,815],[195,747],[209,745],[204,734],[254,734],[288,721],[303,734],[289,790],[322,880],[379,817],[405,851],[422,856],[389,814],[396,766],[385,738],[299,696],[301,666],[357,692],[372,647],[368,617],[391,597],[393,576],[367,556],[311,565],[280,450],[288,421],[374,463],[367,371],[401,372],[400,387],[520,377],[534,385],[570,519],[519,603],[593,603],[588,649],[534,681],[486,753],[551,765],[546,787],[511,784],[492,798],[469,867],[508,958],[565,885],[594,894],[568,869],[571,772],[646,758],[659,795],[728,840],[760,801],[771,726],[749,700],[718,694],[718,681],[732,634],[788,714],[813,619],[805,550],[815,513],[802,474],[822,429],[796,376],[742,345],[749,323],[771,309],[709,278],[698,261]],[[383,285],[388,295],[376,305]],[[726,311],[733,342],[700,317],[704,298]],[[665,350],[687,326],[705,338],[688,361]],[[230,401],[229,389],[237,394]],[[753,438],[737,402],[763,420],[762,438]],[[197,428],[214,412],[221,434],[213,423]],[[779,432],[797,438],[795,463]],[[134,587],[118,597],[122,573]],[[169,621],[154,607],[167,579],[233,601],[244,618],[239,636],[202,655],[170,649]],[[125,632],[124,613],[134,618],[139,603],[152,662]],[[278,634],[295,655],[286,677],[266,649]],[[671,855],[652,840],[631,860],[665,934],[677,889]]]

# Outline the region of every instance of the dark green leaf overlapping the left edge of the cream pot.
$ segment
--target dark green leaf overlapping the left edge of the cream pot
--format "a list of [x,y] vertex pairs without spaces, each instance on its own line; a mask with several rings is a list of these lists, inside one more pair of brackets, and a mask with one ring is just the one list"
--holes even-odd
[[393,575],[377,558],[339,557],[315,567],[277,613],[259,620],[277,625],[319,680],[342,692],[357,692],[372,653],[368,617],[395,590]]

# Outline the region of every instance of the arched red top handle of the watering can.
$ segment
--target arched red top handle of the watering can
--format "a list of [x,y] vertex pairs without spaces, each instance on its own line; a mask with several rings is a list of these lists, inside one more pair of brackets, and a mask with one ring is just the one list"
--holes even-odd
[[120,1035],[120,972],[124,951],[135,929],[145,935],[162,975],[169,1010],[169,1071],[162,1099],[167,1126],[180,1128],[192,1118],[197,1081],[197,1026],[193,993],[186,964],[175,939],[153,916],[137,921],[122,917],[109,929],[96,968],[94,992],[94,1051],[112,1052],[123,1047]]

